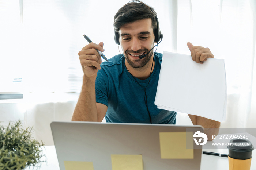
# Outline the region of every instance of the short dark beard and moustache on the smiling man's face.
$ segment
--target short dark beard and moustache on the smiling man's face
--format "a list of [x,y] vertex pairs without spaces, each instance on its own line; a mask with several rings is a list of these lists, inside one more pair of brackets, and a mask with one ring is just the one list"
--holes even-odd
[[138,51],[128,51],[127,50],[127,51],[125,51],[124,57],[125,57],[126,61],[129,63],[129,65],[131,67],[133,67],[135,69],[138,69],[138,68],[144,67],[148,63],[148,61],[150,61],[154,51],[152,50],[149,54],[147,54],[148,53],[147,49],[146,49],[146,52],[145,52],[145,54],[147,54],[146,57],[144,57],[142,59],[136,59],[134,61],[132,61],[129,58],[129,54],[128,53],[141,53],[142,51],[145,51],[145,50],[138,50]]

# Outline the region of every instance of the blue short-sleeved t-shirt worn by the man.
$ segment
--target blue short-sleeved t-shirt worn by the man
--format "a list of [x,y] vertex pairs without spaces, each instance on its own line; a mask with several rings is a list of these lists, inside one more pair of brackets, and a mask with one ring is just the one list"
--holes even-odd
[[[152,123],[175,124],[177,112],[158,109],[154,104],[162,54],[155,53],[154,59],[155,67],[150,78],[136,80],[144,88],[150,81],[146,93]],[[106,122],[150,123],[144,101],[145,91],[138,83],[126,69],[123,55],[116,55],[101,64],[96,78],[96,102],[108,106]]]

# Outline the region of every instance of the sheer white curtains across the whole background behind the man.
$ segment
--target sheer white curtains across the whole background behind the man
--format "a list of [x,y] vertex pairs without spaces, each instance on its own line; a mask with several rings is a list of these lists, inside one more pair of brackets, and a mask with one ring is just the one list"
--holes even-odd
[[[83,34],[95,43],[104,42],[107,58],[119,54],[113,39],[113,17],[128,1],[0,0],[0,8],[8,8],[0,11],[0,77],[7,80],[8,74],[15,74],[23,78],[24,110],[29,115],[25,119],[30,119],[25,122],[33,122],[38,117],[32,119],[38,110],[33,107],[38,103],[51,103],[52,98],[54,102],[64,102],[63,93],[72,92],[72,99],[64,95],[65,101],[72,105],[76,102],[83,76],[78,52],[87,45]],[[221,127],[256,127],[255,1],[144,2],[158,14],[163,34],[158,52],[190,54],[186,43],[191,42],[209,47],[215,58],[225,59],[227,117]],[[2,85],[0,91],[4,88]],[[60,117],[58,110],[45,108],[45,112],[40,110],[38,114]],[[68,110],[70,119],[72,108]],[[187,115],[179,115],[180,124],[189,121]]]

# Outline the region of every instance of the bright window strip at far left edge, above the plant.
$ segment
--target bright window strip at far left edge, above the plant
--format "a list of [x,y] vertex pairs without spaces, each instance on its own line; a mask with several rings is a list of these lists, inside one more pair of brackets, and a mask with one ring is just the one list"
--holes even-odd
[[20,12],[19,1],[0,1],[0,99],[23,98]]

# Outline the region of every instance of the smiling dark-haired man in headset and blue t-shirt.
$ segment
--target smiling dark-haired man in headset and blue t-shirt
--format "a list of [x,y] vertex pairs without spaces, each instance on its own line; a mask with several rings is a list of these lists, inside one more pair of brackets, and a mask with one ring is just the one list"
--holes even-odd
[[[161,42],[158,19],[153,8],[133,1],[114,16],[115,40],[123,54],[101,64],[96,51],[103,43],[90,43],[78,53],[83,68],[83,85],[72,121],[175,124],[177,112],[154,105],[162,54],[154,53],[154,43]],[[193,61],[203,63],[214,58],[210,49],[187,43]],[[143,58],[142,58],[143,56]],[[141,59],[140,59],[141,58]],[[206,128],[208,139],[220,123],[189,115],[192,123]]]

